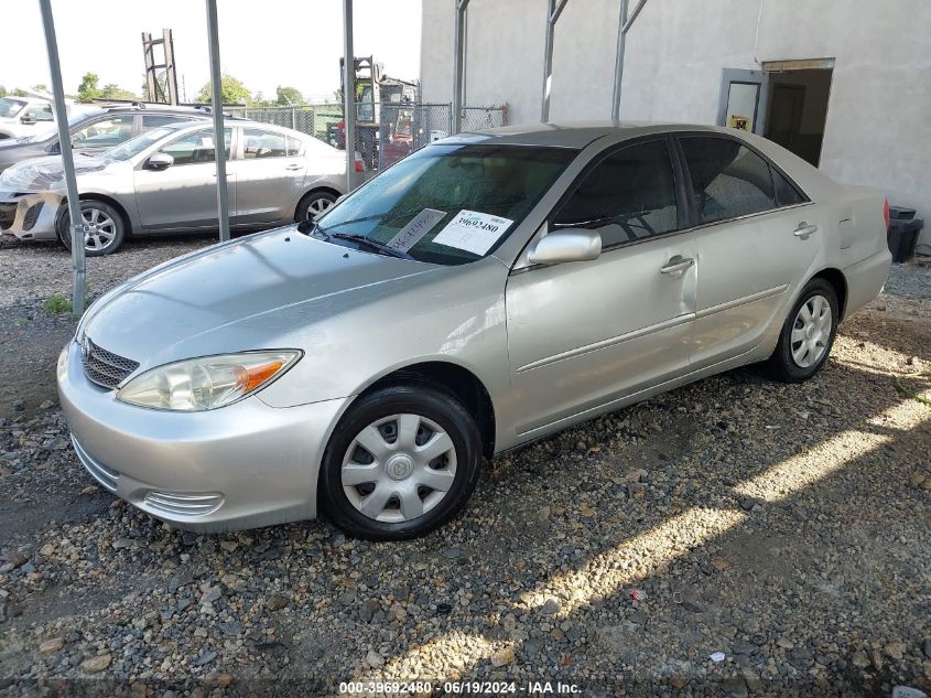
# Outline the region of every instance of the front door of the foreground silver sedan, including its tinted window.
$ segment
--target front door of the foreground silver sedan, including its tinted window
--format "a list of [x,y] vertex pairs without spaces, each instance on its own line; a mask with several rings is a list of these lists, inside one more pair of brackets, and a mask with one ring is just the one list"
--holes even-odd
[[595,410],[683,374],[695,247],[665,137],[623,147],[580,176],[548,229],[602,236],[594,261],[511,273],[508,351],[518,432]]

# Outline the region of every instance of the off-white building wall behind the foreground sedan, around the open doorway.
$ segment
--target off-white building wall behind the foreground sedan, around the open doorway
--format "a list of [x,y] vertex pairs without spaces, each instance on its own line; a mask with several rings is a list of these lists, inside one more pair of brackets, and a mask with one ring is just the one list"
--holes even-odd
[[[619,4],[569,0],[552,120],[609,118]],[[452,99],[453,6],[423,2],[425,101]],[[539,120],[545,14],[546,0],[470,1],[467,104],[508,104],[512,124]],[[723,68],[834,58],[821,169],[917,208],[931,244],[929,28],[928,0],[647,0],[628,34],[621,119],[714,124]]]

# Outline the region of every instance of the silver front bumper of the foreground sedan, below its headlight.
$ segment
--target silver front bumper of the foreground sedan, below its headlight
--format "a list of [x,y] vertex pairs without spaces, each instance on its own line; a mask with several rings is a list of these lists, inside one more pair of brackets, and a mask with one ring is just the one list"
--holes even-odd
[[58,395],[75,452],[102,486],[198,531],[314,518],[320,463],[349,400],[274,408],[252,396],[205,412],[143,409],[88,380],[74,341],[58,359]]

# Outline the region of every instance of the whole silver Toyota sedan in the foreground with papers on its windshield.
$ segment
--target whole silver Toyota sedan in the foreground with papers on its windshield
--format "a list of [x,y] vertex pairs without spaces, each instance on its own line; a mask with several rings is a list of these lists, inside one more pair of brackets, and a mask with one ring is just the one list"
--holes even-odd
[[107,293],[62,406],[87,470],[178,526],[416,536],[483,457],[743,364],[811,378],[885,229],[881,194],[732,130],[465,133]]

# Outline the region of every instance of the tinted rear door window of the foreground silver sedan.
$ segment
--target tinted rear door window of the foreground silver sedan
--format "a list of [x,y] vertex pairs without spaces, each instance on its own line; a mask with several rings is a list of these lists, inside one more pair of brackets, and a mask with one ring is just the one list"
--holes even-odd
[[754,151],[727,138],[686,137],[681,142],[701,223],[776,208],[769,163]]

